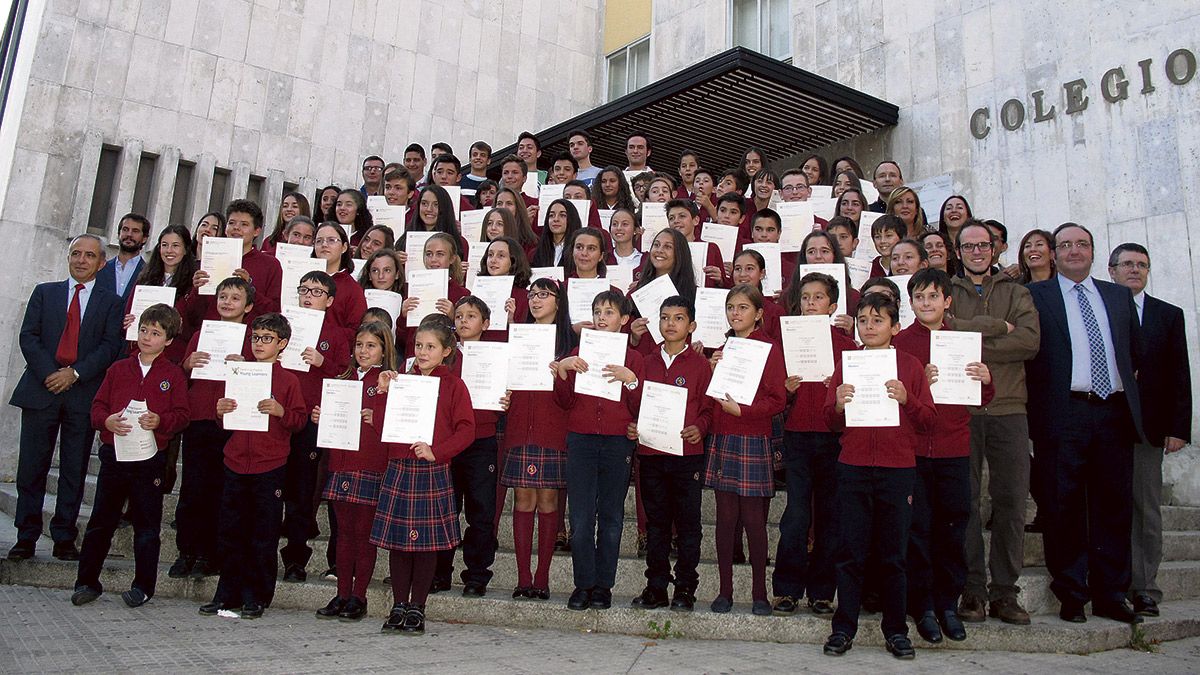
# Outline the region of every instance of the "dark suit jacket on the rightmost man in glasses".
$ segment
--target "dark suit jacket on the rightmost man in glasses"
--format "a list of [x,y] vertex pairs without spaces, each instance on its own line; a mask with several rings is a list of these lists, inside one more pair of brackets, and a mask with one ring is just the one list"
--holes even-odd
[[1138,369],[1142,425],[1150,444],[1162,448],[1166,436],[1192,440],[1192,375],[1183,310],[1145,295],[1141,338],[1150,357]]

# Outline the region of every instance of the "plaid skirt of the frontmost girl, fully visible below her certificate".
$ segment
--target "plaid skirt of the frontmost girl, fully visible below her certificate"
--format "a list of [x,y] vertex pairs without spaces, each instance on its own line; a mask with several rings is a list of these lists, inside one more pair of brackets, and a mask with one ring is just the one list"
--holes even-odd
[[388,462],[371,543],[392,551],[445,551],[458,545],[450,465],[418,459]]

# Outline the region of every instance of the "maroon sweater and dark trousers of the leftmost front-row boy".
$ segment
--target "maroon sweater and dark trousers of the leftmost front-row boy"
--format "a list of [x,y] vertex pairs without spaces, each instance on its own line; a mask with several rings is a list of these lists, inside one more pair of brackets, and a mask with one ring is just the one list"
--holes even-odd
[[[138,461],[118,461],[113,432],[106,428],[108,417],[125,410],[130,401],[144,401],[158,416],[154,430],[158,452]],[[170,437],[187,425],[187,383],[184,371],[162,354],[149,366],[139,357],[119,360],[108,369],[91,404],[91,425],[100,431],[100,476],[96,501],[83,537],[76,589],[86,586],[102,591],[100,569],[108,556],[113,533],[121,520],[126,500],[133,522],[133,589],[152,597],[158,575],[158,549],[162,530],[162,470]],[[137,419],[126,419],[138,429]]]

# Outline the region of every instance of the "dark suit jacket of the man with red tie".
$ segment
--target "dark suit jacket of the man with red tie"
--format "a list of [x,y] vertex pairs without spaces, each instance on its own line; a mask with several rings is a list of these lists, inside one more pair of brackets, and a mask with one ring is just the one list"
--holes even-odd
[[46,378],[59,369],[54,352],[58,351],[59,339],[67,325],[67,283],[38,283],[29,297],[25,319],[20,324],[20,353],[25,357],[25,372],[8,400],[17,407],[42,410],[58,396],[64,396],[73,412],[89,412],[91,399],[104,381],[104,372],[125,346],[125,331],[121,329],[125,303],[116,293],[96,283],[91,287],[88,309],[79,322],[79,358],[73,365],[79,381],[56,395],[46,388]]

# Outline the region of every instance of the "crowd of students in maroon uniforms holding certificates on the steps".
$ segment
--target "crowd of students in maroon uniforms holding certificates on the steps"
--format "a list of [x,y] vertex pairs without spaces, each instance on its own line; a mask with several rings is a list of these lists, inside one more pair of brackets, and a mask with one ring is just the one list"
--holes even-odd
[[[473,166],[476,159],[473,147]],[[568,607],[606,609],[636,464],[647,585],[634,607],[694,609],[701,495],[710,488],[716,497],[719,571],[713,611],[732,609],[732,569],[744,536],[752,613],[792,614],[806,595],[814,613],[833,614],[826,653],[841,655],[851,647],[864,595],[877,596],[887,649],[898,658],[914,655],[906,615],[929,641],[940,641],[943,634],[966,638],[955,613],[965,580],[966,514],[947,514],[944,504],[967,502],[961,492],[970,489],[970,416],[965,406],[932,401],[930,386],[938,372],[930,365],[930,333],[947,325],[958,233],[986,227],[1003,240],[1007,233],[1000,223],[973,220],[962,197],[948,199],[938,225],[929,223],[916,192],[899,184],[899,168],[892,162],[881,163],[876,174],[895,169],[896,185],[887,195],[881,192],[881,202],[868,202],[862,171],[852,159],[834,162],[832,179],[820,157],[780,178],[766,167],[761,153],[751,150],[744,167],[719,180],[689,154],[680,161],[682,183],[665,173],[640,173],[632,187],[626,172],[617,167],[598,169],[590,184],[584,183],[577,178],[578,162],[565,155],[546,177],[565,185],[564,197],[546,207],[542,225],[539,202],[524,192],[529,163],[505,157],[500,184],[480,181],[473,196],[460,197],[461,210],[487,209],[478,221],[480,231],[463,233],[445,190],[464,180],[452,154],[434,156],[428,173],[416,179],[410,167],[380,172],[377,163],[383,165],[368,157],[364,175],[383,173],[372,189],[388,205],[407,207],[406,232],[372,222],[366,186],[318,191],[317,217],[310,215],[307,198],[287,195],[266,237],[262,209],[245,199],[230,203],[223,214],[206,214],[194,233],[180,226],[160,232],[137,283],[173,286],[176,303],[134,316],[131,299],[125,324],[137,322],[138,340],[131,356],[109,369],[92,404],[91,422],[102,442],[100,485],[72,602],[83,604],[100,595],[100,567],[126,501],[134,526],[137,575],[125,601],[136,607],[154,595],[162,492],[151,477],[163,470],[167,453],[116,461],[114,435],[126,435],[136,424],[152,430],[160,448],[181,437],[180,556],[170,575],[220,574],[212,602],[200,608],[205,615],[263,614],[274,596],[281,537],[287,539],[280,551],[284,580],[304,580],[312,555],[306,542],[317,534],[316,504],[326,500],[336,522],[330,562],[337,592],[317,615],[344,621],[365,616],[367,584],[377,548],[383,548],[389,551],[394,593],[383,631],[422,633],[427,596],[449,589],[456,548],[462,548],[466,565],[463,595],[486,593],[508,488],[514,490],[518,574],[512,597],[548,599],[565,492],[575,586]],[[752,178],[744,169],[754,169]],[[833,185],[834,217],[815,219],[802,250],[781,256],[781,292],[764,293],[770,270],[752,245],[779,241],[784,223],[772,201],[805,199],[822,181]],[[419,183],[425,185],[418,187]],[[590,202],[586,216],[572,201]],[[656,202],[665,203],[668,227],[643,233],[642,213]],[[799,265],[841,264],[854,256],[866,210],[888,213],[871,225],[878,256],[865,285],[852,288],[848,276],[802,274]],[[703,241],[701,231],[708,223],[738,228],[732,259],[713,243],[694,257],[700,255],[694,244]],[[420,231],[432,233],[420,249],[424,267],[446,269],[450,281],[448,297],[432,303],[436,311],[414,322],[408,315],[424,305],[421,298],[407,294],[406,269],[413,267],[414,251],[404,244],[408,232]],[[643,235],[652,238],[649,245],[641,245]],[[221,280],[214,295],[199,292],[216,281],[199,269],[206,237],[240,238],[244,246],[241,268]],[[1028,257],[1024,255],[1032,239],[1021,243],[1021,262],[1012,274],[1037,279],[1046,267],[1044,251],[1034,259],[1040,251],[1036,246],[1030,246]],[[281,267],[274,257],[280,244],[312,246],[312,256],[326,261],[325,269],[305,274],[296,288],[281,288]],[[484,247],[478,263],[468,259],[473,246]],[[629,268],[628,276],[616,274],[623,267]],[[503,306],[490,306],[472,294],[468,273],[511,276],[511,295]],[[889,275],[912,276],[907,287],[899,288]],[[584,303],[590,315],[572,312],[572,281],[601,277],[612,277],[613,285]],[[656,311],[635,307],[630,295],[662,277],[676,293]],[[727,338],[770,345],[751,404],[707,394],[724,347],[692,336],[697,288],[724,289]],[[403,294],[400,316],[368,307],[366,289]],[[307,371],[278,364],[292,338],[280,313],[286,294],[295,294],[302,307],[324,311],[317,346],[302,353]],[[916,317],[904,329],[901,305],[911,306]],[[503,413],[473,408],[456,353],[474,340],[506,340],[506,331],[491,329],[500,312],[510,324],[551,325],[556,335],[553,353],[545,354],[552,390],[509,392],[502,400]],[[780,317],[808,315],[830,317],[839,365],[826,381],[788,377],[784,365]],[[205,321],[247,324],[241,353],[200,352]],[[592,330],[628,334],[624,360],[584,362],[580,341]],[[847,428],[845,407],[856,393],[842,383],[841,354],[893,347],[896,377],[886,388],[899,405],[899,426]],[[190,377],[194,369],[222,359],[230,368],[239,360],[275,364],[271,398],[257,404],[270,418],[266,431],[224,430],[222,420],[238,404],[224,396],[222,382]],[[576,390],[576,378],[589,371],[620,383],[617,400]],[[382,440],[389,386],[397,374],[439,380],[432,443]],[[972,363],[966,375],[983,383],[986,404],[988,366]],[[362,382],[358,450],[317,444],[325,378]],[[650,382],[686,389],[682,454],[638,442],[638,406],[643,384]],[[144,400],[149,412],[126,418],[127,405],[137,400]],[[776,476],[785,480],[788,498],[772,603],[767,513]],[[466,515],[466,532],[460,531],[460,512]]]

